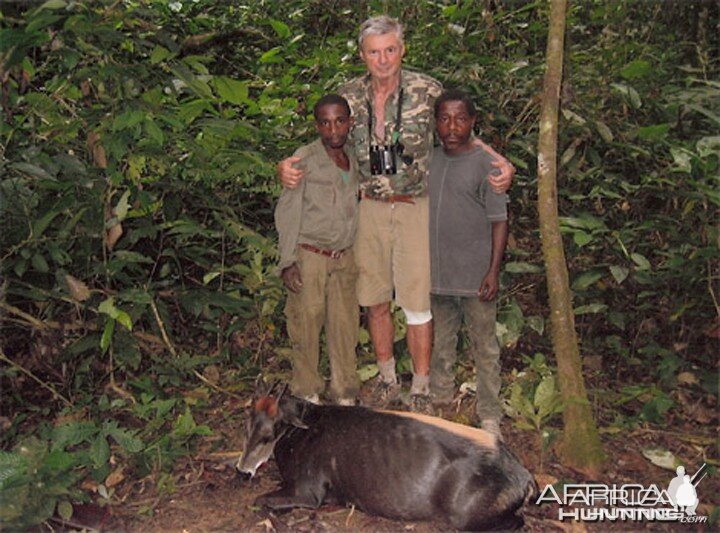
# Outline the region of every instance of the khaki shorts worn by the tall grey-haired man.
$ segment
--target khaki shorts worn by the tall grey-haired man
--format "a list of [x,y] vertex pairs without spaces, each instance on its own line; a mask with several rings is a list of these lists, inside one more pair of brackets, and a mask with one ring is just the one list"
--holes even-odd
[[362,306],[395,302],[409,311],[430,310],[429,200],[360,201],[355,261]]

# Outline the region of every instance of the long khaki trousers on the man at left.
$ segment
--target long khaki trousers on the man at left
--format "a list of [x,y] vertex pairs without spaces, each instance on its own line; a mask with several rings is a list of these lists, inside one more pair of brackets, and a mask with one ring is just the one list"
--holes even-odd
[[358,343],[359,307],[357,267],[352,249],[331,259],[298,249],[303,286],[288,292],[285,305],[287,330],[292,343],[292,381],[297,396],[321,394],[325,381],[318,372],[320,332],[325,328],[330,360],[330,396],[355,398],[360,388],[355,347]]

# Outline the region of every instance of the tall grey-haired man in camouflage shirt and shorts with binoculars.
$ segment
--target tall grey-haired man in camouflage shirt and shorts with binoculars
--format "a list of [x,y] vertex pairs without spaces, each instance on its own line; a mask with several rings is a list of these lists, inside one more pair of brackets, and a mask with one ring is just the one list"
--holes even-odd
[[[429,76],[402,68],[403,30],[395,19],[379,16],[365,21],[359,44],[368,74],[338,92],[348,100],[355,116],[348,144],[360,169],[355,244],[360,270],[358,299],[368,307],[368,326],[380,369],[368,403],[387,405],[400,392],[390,310],[394,295],[407,318],[406,338],[413,362],[407,403],[415,411],[429,412],[432,315],[427,178],[433,148],[433,103],[442,86]],[[500,175],[489,179],[493,188],[505,191],[514,169],[498,158]],[[297,158],[287,158],[278,165],[286,187],[295,187],[302,179],[302,171],[293,167],[297,162]]]

